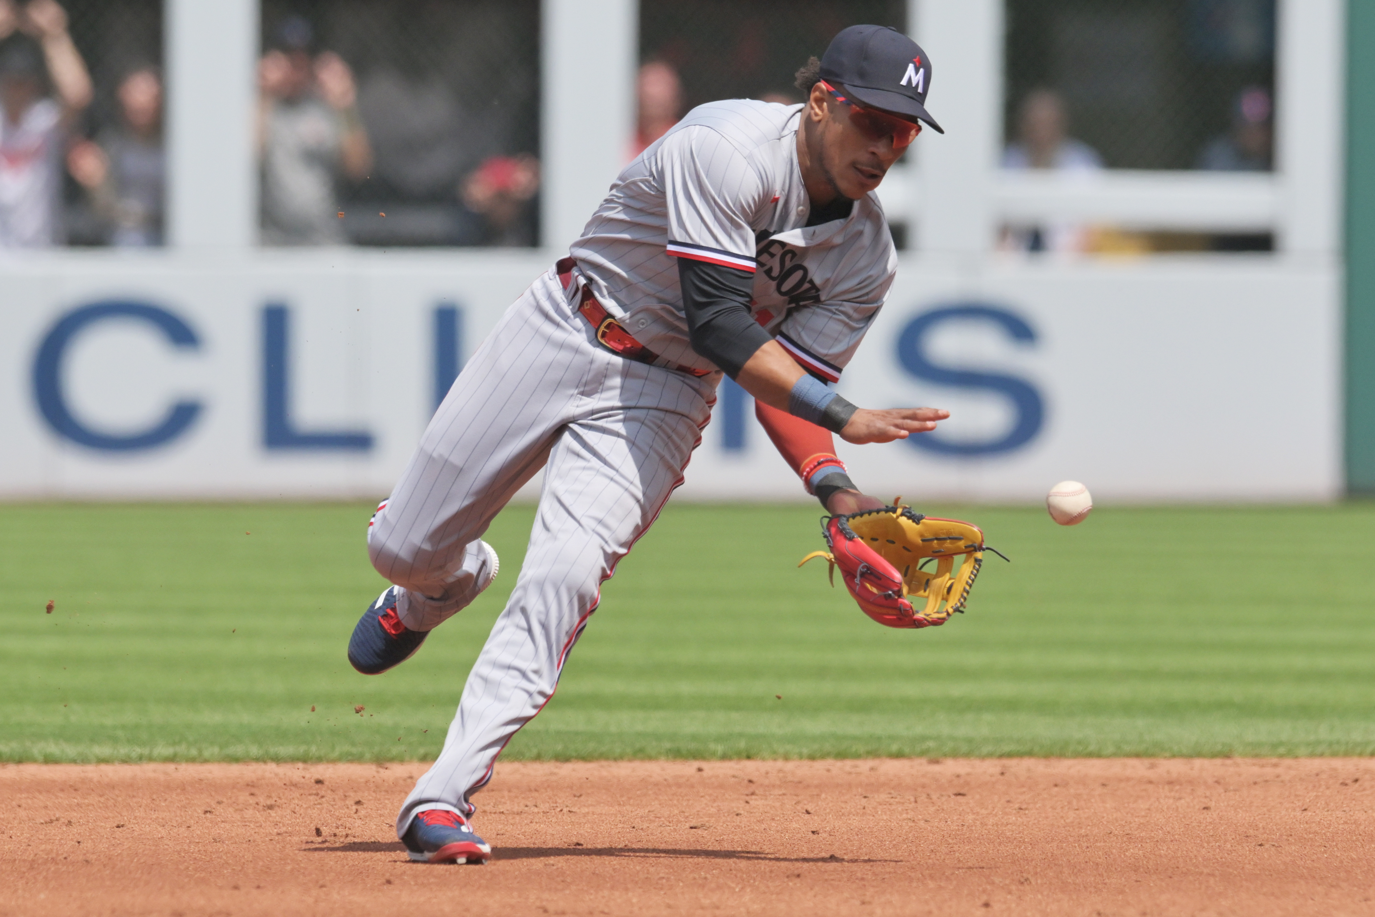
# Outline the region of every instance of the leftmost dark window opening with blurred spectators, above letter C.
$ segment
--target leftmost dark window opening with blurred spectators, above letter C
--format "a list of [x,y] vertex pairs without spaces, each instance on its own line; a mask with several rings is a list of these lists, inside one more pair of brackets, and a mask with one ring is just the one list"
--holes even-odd
[[7,7],[0,249],[161,246],[161,0]]

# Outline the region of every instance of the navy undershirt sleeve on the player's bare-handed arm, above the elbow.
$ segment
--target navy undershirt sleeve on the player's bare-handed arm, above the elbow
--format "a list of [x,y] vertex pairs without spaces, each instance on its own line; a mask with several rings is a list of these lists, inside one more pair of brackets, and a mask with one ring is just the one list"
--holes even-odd
[[692,349],[736,378],[755,351],[773,340],[749,315],[751,271],[678,258],[678,282]]

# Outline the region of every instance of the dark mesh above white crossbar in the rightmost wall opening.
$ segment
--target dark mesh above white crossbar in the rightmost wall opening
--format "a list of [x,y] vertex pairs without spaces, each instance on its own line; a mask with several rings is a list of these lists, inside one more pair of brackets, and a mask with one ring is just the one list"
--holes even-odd
[[1273,0],[1006,0],[1005,11],[1012,159],[1046,146],[1059,118],[1078,142],[1062,159],[1273,168]]

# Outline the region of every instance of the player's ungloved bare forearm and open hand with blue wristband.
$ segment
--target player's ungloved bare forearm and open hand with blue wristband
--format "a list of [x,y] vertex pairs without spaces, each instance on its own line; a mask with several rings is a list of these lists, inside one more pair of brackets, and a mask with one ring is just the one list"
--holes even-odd
[[[777,341],[769,341],[745,360],[736,375],[740,386],[769,407],[802,417],[840,434],[847,443],[891,443],[913,433],[936,429],[936,422],[950,417],[934,407],[870,411],[855,408],[821,382],[813,379]],[[825,404],[822,404],[825,399]],[[839,404],[837,404],[839,401]],[[850,410],[852,408],[852,411]],[[814,410],[817,418],[806,412]],[[847,415],[846,415],[847,414]],[[843,423],[842,423],[843,421]]]

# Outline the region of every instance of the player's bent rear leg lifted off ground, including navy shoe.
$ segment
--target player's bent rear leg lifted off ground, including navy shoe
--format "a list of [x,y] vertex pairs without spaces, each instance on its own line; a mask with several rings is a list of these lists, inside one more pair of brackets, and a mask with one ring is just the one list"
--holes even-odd
[[566,359],[583,345],[568,312],[553,274],[531,285],[463,367],[374,514],[368,554],[393,586],[355,628],[359,671],[406,660],[491,584],[496,554],[481,535],[544,465],[587,373]]

